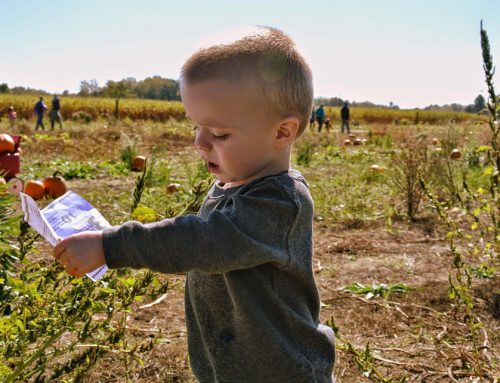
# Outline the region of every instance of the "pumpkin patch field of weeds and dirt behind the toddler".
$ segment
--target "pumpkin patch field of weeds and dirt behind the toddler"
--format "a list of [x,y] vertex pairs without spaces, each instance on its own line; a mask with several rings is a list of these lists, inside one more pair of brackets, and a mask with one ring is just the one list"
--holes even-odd
[[[307,128],[292,166],[315,202],[313,270],[320,319],[336,332],[337,382],[498,381],[495,125],[466,114],[404,124],[360,118],[348,136],[335,113],[327,110],[328,133]],[[112,225],[153,222],[196,214],[214,181],[182,112],[33,127],[0,121],[1,133],[21,135],[17,178],[40,207],[71,190]],[[195,382],[184,275],[68,276],[22,223],[7,187],[0,184],[0,381]]]

